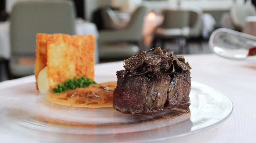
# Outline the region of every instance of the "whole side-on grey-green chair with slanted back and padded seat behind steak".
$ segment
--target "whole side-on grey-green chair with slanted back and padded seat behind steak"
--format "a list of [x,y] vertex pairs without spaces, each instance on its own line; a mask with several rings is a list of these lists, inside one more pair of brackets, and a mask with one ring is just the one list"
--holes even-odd
[[138,53],[138,45],[143,40],[142,28],[146,12],[147,8],[140,6],[133,12],[125,28],[99,31],[99,58],[128,58]]

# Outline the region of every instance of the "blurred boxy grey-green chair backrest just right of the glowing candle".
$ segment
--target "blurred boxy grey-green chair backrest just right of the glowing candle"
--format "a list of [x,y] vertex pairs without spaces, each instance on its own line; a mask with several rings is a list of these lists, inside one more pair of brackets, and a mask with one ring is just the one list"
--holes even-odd
[[189,11],[183,9],[164,9],[163,23],[160,27],[163,28],[182,28],[189,26]]

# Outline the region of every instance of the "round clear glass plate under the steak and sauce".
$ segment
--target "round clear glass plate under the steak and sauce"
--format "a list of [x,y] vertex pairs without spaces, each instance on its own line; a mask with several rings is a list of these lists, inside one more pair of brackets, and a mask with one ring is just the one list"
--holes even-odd
[[163,141],[220,123],[233,108],[223,93],[196,82],[192,82],[190,105],[151,116],[62,106],[45,96],[36,94],[33,82],[0,91],[0,137],[45,142]]

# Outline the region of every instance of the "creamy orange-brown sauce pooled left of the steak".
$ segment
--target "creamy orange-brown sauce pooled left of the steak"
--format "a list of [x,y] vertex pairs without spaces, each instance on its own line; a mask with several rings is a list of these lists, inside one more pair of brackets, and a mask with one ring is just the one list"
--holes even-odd
[[74,107],[113,107],[113,92],[117,82],[92,84],[62,93],[49,93],[46,100],[52,103]]

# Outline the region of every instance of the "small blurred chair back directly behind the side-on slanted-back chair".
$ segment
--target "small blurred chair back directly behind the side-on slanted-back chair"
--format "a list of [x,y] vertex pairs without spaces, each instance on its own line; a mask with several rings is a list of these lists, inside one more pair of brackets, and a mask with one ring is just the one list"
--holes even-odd
[[101,10],[104,29],[122,29],[126,24],[121,23],[115,12],[110,7],[104,7]]

